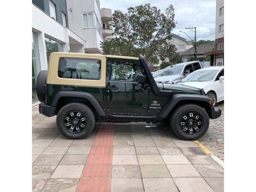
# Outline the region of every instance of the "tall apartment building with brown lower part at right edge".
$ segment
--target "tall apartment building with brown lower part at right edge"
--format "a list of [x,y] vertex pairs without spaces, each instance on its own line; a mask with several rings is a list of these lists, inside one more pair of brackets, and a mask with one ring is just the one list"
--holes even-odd
[[211,66],[224,65],[224,0],[216,0],[215,51],[204,55],[211,56]]

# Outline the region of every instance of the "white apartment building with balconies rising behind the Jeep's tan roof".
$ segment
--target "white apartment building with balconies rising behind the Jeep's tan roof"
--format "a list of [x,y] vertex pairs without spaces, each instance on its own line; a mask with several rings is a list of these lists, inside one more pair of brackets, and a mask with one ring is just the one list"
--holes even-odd
[[71,45],[76,52],[102,54],[100,42],[112,36],[111,9],[100,9],[99,0],[67,0],[69,28],[84,39]]

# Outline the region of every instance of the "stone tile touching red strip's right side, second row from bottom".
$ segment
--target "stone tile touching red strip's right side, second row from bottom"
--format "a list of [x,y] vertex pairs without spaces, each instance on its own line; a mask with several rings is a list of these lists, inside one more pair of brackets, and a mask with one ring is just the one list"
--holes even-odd
[[138,165],[113,165],[112,178],[140,178]]

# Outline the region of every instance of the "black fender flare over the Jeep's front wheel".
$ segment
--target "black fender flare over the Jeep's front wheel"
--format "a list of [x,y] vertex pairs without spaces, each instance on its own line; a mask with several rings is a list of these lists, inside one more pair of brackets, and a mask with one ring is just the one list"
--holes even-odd
[[209,101],[211,101],[211,99],[206,95],[175,94],[165,103],[164,107],[161,109],[157,116],[161,118],[166,118],[170,111],[175,107],[175,105],[182,100],[203,101],[205,102],[206,106],[213,106],[212,104],[209,104]]

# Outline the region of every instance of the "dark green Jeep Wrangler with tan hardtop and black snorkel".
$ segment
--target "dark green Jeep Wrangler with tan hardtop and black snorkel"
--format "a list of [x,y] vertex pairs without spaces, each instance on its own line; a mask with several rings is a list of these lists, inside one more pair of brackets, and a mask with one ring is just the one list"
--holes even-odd
[[168,121],[183,140],[196,140],[221,115],[203,89],[156,83],[142,55],[54,52],[36,81],[39,112],[70,139],[87,137],[95,122]]

